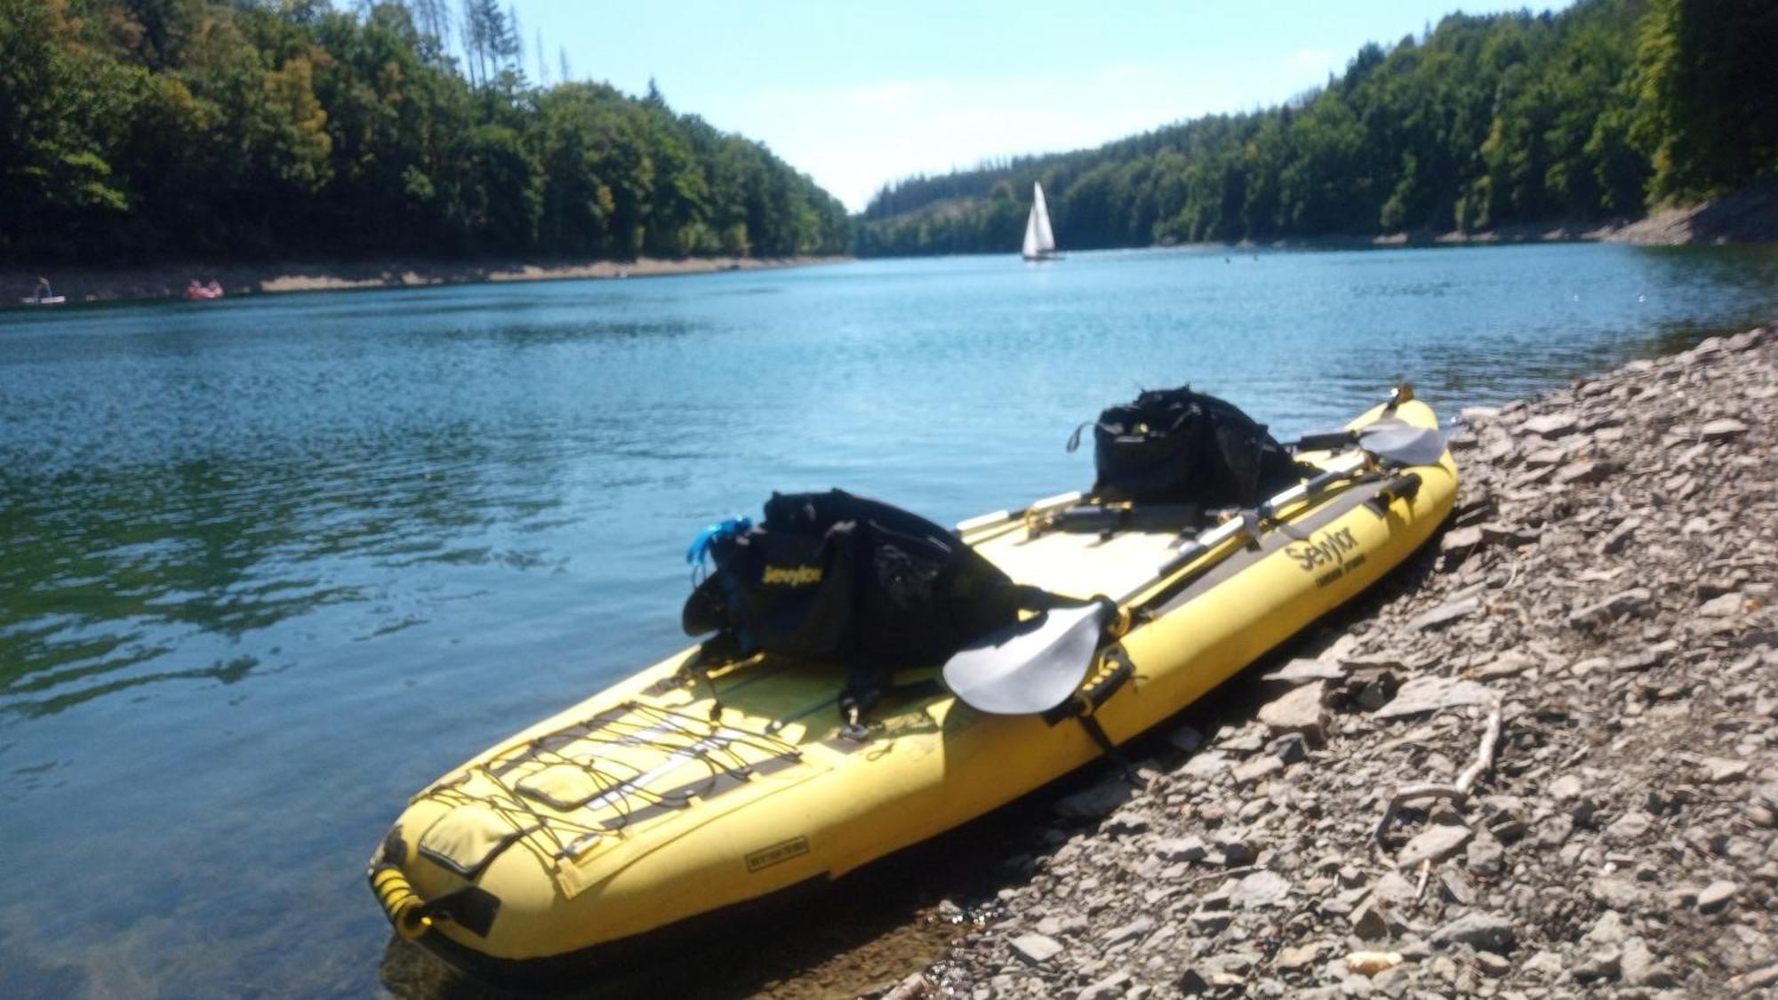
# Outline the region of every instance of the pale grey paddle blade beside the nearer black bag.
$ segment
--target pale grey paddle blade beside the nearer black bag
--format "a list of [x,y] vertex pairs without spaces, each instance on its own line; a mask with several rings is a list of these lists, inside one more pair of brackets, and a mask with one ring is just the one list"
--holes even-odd
[[1038,715],[1086,680],[1104,635],[1106,607],[1049,609],[964,646],[944,664],[944,683],[990,715]]

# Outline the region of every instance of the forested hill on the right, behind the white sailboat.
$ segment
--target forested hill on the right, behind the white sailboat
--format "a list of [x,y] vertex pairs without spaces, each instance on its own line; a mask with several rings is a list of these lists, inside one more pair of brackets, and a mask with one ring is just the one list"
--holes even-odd
[[1284,107],[889,185],[857,253],[1010,253],[1033,181],[1061,249],[1639,215],[1778,173],[1774,52],[1771,0],[1453,14]]

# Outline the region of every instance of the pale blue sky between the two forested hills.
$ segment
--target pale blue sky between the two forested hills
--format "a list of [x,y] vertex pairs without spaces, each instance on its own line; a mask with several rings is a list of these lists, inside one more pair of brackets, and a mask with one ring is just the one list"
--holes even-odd
[[[1531,4],[1543,11],[1566,4]],[[884,181],[1077,149],[1326,82],[1458,0],[896,4],[517,0],[526,69],[642,93],[766,142],[859,210]]]

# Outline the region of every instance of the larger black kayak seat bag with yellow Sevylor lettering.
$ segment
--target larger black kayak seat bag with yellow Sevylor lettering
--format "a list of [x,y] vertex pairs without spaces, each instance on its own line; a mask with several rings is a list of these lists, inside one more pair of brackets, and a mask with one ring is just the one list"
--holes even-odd
[[1067,601],[1013,584],[917,514],[841,489],[773,493],[765,514],[715,525],[686,553],[715,564],[685,605],[686,635],[843,664],[848,687],[868,690],[894,667],[942,664],[1024,607]]

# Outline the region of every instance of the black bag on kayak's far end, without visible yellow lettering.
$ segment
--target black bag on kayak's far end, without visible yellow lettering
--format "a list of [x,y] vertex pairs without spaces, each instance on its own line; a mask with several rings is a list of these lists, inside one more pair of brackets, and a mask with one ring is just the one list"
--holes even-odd
[[[1079,445],[1079,429],[1069,441]],[[1266,425],[1213,395],[1149,390],[1093,422],[1099,500],[1253,507],[1309,472]]]

